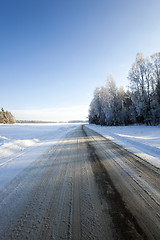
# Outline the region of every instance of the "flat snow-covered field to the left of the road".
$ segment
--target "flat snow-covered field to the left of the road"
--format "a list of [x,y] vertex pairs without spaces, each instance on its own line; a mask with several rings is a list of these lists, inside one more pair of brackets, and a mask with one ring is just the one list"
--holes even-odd
[[76,124],[0,124],[0,190]]

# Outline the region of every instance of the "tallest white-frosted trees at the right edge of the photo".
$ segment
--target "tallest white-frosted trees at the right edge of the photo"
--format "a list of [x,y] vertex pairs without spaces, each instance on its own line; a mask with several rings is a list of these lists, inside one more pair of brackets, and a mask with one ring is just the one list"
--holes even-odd
[[129,72],[132,101],[138,123],[160,122],[160,53],[144,59],[138,53]]

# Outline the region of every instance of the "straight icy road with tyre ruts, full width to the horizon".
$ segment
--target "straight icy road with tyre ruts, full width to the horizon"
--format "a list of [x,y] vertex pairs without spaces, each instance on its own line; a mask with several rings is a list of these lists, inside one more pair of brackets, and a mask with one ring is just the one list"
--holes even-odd
[[159,186],[158,168],[78,126],[1,192],[0,236],[160,239]]

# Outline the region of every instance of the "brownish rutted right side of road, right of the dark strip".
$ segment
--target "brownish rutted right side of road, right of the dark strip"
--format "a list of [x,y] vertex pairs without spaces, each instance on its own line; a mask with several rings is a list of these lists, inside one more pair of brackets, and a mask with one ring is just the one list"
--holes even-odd
[[[138,227],[138,232],[145,232],[149,239],[158,240],[160,237],[160,207],[158,182],[155,181],[158,173],[155,175],[151,166],[151,174],[147,174],[149,172],[149,166],[147,165],[142,168],[141,163],[140,170],[138,164],[135,168],[134,160],[126,161],[128,159],[126,155],[127,150],[124,150],[125,154],[120,154],[120,152],[116,151],[114,143],[112,148],[112,142],[109,141],[108,147],[108,139],[105,141],[104,137],[101,137],[101,135],[94,131],[90,131],[86,127],[85,130],[89,135],[89,147],[94,149],[92,158],[94,159],[94,155],[97,155],[96,159],[98,159],[99,156],[101,157],[101,161],[99,161],[100,165],[104,170],[107,169],[113,186],[118,189],[122,196],[121,199],[123,199],[127,209],[130,209],[134,216],[134,224],[136,228]],[[121,148],[121,151],[122,150]],[[134,157],[134,155],[132,157]],[[98,160],[95,160],[95,162],[98,162]],[[145,172],[146,168],[148,168],[147,173]],[[139,172],[141,173],[140,177]],[[153,174],[154,177],[151,179]],[[138,225],[141,226],[141,230]],[[144,238],[146,238],[146,234],[142,234]]]

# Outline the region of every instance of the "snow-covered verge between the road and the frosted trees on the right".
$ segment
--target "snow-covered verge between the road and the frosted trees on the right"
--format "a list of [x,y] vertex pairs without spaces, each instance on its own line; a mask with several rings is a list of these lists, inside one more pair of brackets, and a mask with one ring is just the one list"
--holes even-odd
[[160,126],[86,126],[160,168]]

